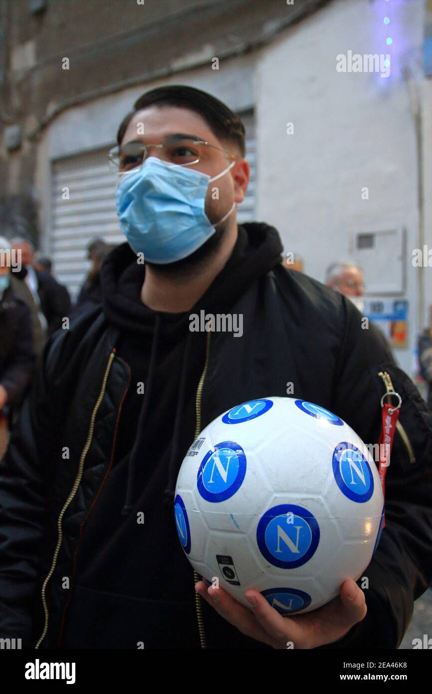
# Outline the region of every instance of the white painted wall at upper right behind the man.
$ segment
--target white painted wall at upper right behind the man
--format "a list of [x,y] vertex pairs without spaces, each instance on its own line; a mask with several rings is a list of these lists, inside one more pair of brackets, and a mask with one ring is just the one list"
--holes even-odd
[[[392,15],[390,5],[397,5]],[[383,41],[386,13],[392,17],[390,36],[397,37],[397,46],[390,49],[395,53],[390,76],[338,73],[339,53],[390,52]],[[410,302],[411,344],[395,355],[410,373],[416,331],[417,269],[411,251],[417,247],[417,168],[413,116],[399,69],[409,65],[421,80],[422,35],[422,0],[339,0],[263,49],[254,85],[257,218],[279,229],[286,251],[304,258],[306,273],[324,280],[331,262],[350,257],[354,231],[389,222],[406,227],[407,287],[400,298]],[[431,107],[429,103],[429,114]],[[288,121],[294,124],[293,135],[286,134]],[[431,130],[429,122],[430,149]],[[361,198],[363,186],[369,188],[368,200]]]

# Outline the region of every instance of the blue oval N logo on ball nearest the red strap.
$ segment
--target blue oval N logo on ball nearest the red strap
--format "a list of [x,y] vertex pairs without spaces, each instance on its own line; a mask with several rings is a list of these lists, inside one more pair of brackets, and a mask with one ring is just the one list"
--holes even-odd
[[333,452],[333,473],[340,491],[352,501],[364,503],[374,493],[368,460],[353,443],[338,443]]

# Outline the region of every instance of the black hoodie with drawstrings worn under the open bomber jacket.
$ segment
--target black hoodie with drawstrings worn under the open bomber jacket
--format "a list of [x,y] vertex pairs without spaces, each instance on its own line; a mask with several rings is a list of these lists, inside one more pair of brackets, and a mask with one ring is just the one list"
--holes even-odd
[[[114,465],[81,539],[64,647],[116,642],[123,648],[200,647],[193,570],[173,520],[175,482],[195,437],[196,391],[205,363],[207,333],[191,332],[189,316],[202,309],[229,312],[252,282],[281,262],[281,252],[273,227],[240,226],[223,270],[196,306],[180,314],[153,311],[141,302],[145,266],[128,244],[105,261],[103,310],[121,330],[116,352],[129,366],[130,384]],[[107,614],[107,600],[118,620],[110,610]],[[206,604],[203,609],[215,645],[264,648]],[[95,632],[92,623],[98,624]]]

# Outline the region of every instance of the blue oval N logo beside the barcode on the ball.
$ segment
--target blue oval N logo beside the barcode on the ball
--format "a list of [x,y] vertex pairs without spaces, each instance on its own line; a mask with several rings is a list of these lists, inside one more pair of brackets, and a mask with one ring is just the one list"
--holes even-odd
[[207,501],[225,501],[239,489],[245,474],[246,456],[239,443],[216,443],[200,464],[197,477],[198,492]]

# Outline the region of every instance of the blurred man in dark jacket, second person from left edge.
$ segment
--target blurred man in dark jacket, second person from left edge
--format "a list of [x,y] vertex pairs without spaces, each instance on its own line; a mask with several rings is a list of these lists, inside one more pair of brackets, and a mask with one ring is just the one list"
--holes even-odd
[[69,292],[51,275],[33,267],[35,249],[28,239],[12,239],[12,248],[21,253],[21,271],[15,275],[30,289],[37,305],[42,328],[46,335],[51,335],[62,327],[62,319],[69,316],[71,308]]

